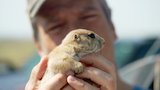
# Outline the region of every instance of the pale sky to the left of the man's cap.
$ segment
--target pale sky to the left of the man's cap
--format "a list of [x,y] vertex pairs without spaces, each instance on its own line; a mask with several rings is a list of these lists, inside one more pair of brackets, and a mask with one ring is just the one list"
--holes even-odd
[[25,0],[1,0],[0,38],[32,38]]

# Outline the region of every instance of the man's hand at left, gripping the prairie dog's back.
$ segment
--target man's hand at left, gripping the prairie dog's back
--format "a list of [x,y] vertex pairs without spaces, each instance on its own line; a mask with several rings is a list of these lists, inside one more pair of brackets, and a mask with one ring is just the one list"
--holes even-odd
[[[25,90],[61,90],[67,84],[67,76],[64,74],[56,74],[47,83],[39,85],[40,80],[47,67],[48,58],[43,57],[39,64],[37,64],[32,72],[30,79],[25,87]],[[65,89],[66,88],[66,89]],[[71,87],[66,86],[64,90],[70,90]]]

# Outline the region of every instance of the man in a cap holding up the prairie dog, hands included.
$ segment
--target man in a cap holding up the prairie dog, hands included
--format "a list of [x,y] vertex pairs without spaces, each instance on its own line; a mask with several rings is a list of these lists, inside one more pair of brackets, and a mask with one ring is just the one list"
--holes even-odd
[[[105,0],[30,0],[29,16],[35,44],[43,58],[32,70],[26,90],[133,90],[117,75],[116,34],[110,14]],[[59,45],[68,32],[79,28],[92,30],[105,39],[101,53],[81,60],[89,65],[82,74],[59,73],[44,85],[38,85],[46,69],[48,59],[45,55]]]

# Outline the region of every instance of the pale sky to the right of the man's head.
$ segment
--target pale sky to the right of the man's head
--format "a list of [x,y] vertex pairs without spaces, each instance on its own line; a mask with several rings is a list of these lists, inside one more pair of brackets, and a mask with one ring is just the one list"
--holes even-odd
[[160,0],[107,0],[119,38],[160,36]]

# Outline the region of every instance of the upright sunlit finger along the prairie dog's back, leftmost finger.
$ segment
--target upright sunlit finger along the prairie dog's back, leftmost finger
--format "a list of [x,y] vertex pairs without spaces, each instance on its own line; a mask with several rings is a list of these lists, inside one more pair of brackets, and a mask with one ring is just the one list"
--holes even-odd
[[26,84],[25,90],[34,90],[46,70],[48,58],[42,57],[40,62],[32,69],[30,78]]

